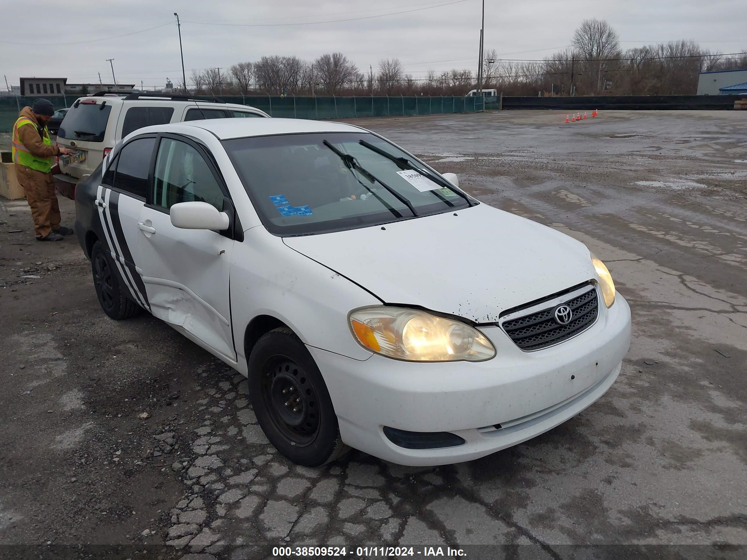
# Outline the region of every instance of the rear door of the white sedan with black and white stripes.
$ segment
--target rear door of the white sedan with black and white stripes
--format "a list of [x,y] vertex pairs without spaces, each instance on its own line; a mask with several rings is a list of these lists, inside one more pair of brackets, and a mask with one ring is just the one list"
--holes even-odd
[[146,287],[138,270],[140,263],[140,221],[149,186],[149,169],[155,148],[155,134],[126,143],[102,176],[94,204],[99,211],[103,240],[131,299],[150,309]]

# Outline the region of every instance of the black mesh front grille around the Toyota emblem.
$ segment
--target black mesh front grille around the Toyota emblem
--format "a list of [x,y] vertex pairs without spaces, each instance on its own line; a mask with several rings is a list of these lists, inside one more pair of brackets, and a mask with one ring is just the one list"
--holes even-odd
[[[560,325],[555,320],[555,309],[562,304],[568,305],[573,311],[571,322],[567,325]],[[539,350],[585,331],[592,326],[598,313],[597,290],[591,287],[589,291],[567,302],[508,320],[502,326],[511,340],[522,350]]]

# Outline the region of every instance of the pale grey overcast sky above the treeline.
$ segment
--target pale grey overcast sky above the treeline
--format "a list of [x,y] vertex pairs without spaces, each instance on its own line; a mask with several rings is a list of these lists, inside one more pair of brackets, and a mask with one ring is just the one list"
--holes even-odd
[[[385,57],[398,57],[415,78],[424,77],[429,69],[474,70],[480,0],[436,7],[454,1],[7,1],[0,22],[0,66],[10,84],[18,84],[21,76],[97,82],[98,72],[111,83],[105,59],[114,58],[119,83],[140,87],[142,80],[146,87],[164,87],[171,78],[176,84],[181,81],[181,61],[172,14],[178,10],[187,81],[192,69],[227,69],[263,55],[312,60],[333,51],[344,52],[366,73],[369,65],[376,72]],[[408,13],[379,17],[395,12]],[[692,39],[713,51],[747,50],[747,0],[487,0],[485,46],[503,58],[542,58],[568,45],[577,25],[590,17],[607,19],[618,31],[623,49]],[[365,19],[288,25],[353,18]],[[163,24],[127,37],[63,44]]]

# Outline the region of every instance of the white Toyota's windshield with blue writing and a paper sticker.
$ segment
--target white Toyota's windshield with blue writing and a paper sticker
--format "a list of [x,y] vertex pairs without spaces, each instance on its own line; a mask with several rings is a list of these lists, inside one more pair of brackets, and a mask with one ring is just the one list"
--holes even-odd
[[468,206],[463,193],[416,170],[433,176],[425,164],[373,134],[284,134],[223,140],[223,146],[274,234],[362,228]]

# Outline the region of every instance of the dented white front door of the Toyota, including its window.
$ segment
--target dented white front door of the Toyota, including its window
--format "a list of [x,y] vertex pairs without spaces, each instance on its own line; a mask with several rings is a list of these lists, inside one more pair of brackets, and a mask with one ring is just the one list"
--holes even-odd
[[137,225],[149,305],[155,317],[235,361],[229,300],[232,234],[176,228],[170,208],[178,202],[207,202],[220,211],[230,205],[207,150],[185,137],[163,134],[149,204],[143,205]]

